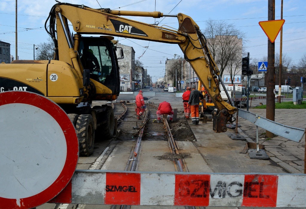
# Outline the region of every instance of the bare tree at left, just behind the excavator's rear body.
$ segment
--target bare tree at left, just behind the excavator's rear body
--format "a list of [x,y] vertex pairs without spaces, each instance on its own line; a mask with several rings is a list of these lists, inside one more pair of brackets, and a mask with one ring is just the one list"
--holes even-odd
[[36,60],[51,60],[54,59],[54,42],[49,37],[47,42],[39,43],[35,50]]

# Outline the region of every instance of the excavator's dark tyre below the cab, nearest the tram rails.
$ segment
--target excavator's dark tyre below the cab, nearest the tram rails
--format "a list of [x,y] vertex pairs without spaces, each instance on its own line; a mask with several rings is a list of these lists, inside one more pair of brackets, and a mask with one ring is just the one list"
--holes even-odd
[[111,139],[113,137],[114,134],[114,111],[113,108],[108,106],[106,109],[106,123],[104,123],[103,125],[99,126],[99,135],[103,136],[103,139]]

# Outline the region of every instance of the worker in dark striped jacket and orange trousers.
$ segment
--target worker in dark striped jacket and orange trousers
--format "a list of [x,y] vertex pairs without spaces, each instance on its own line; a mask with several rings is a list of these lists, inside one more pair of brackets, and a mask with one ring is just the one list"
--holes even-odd
[[188,107],[190,106],[191,121],[190,125],[199,125],[199,104],[200,99],[203,100],[204,96],[199,90],[196,89],[196,85],[191,85],[192,91],[189,96]]

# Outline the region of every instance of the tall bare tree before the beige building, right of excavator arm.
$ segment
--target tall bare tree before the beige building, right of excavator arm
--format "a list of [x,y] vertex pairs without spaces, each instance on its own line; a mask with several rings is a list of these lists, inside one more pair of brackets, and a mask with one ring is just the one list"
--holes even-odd
[[[226,69],[230,71],[231,75],[237,74],[240,67],[234,67],[233,64],[241,65],[242,40],[245,38],[245,33],[235,28],[234,24],[212,19],[206,22],[203,33],[207,38],[207,46],[219,67],[221,76]],[[231,72],[231,70],[235,72]]]

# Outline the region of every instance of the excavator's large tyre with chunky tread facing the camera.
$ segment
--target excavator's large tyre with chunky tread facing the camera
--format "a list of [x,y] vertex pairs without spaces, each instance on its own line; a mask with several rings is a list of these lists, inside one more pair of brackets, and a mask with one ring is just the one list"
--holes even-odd
[[76,133],[79,140],[80,155],[89,156],[95,146],[94,121],[91,115],[80,115],[76,121]]

